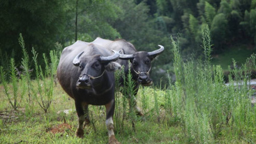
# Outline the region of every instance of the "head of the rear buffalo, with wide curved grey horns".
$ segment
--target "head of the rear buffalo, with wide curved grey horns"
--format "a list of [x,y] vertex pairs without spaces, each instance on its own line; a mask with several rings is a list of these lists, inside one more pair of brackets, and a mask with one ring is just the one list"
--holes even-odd
[[138,77],[138,83],[143,86],[152,85],[152,79],[150,78],[151,61],[161,54],[165,48],[161,45],[158,50],[146,52],[138,51],[133,54],[120,54],[119,59],[130,60],[131,72]]

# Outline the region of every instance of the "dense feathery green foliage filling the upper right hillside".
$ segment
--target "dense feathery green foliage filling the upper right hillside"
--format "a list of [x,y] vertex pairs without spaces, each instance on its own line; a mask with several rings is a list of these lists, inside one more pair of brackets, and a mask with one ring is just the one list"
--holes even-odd
[[159,0],[157,7],[164,29],[184,34],[182,49],[197,52],[206,25],[210,26],[215,53],[237,41],[255,43],[255,1]]

